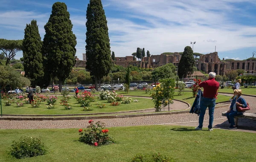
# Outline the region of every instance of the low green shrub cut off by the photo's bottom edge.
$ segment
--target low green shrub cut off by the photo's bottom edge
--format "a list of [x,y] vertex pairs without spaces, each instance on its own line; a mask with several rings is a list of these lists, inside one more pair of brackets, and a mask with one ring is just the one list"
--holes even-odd
[[174,162],[174,159],[160,155],[160,153],[157,153],[152,155],[137,154],[131,159],[131,161],[132,162]]

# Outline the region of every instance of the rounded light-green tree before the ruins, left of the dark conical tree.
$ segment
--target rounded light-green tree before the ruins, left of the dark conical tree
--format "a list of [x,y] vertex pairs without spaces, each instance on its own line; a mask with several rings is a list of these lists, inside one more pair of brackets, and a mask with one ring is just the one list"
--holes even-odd
[[175,65],[172,63],[165,64],[163,66],[154,68],[152,71],[152,77],[157,80],[163,78],[175,78]]

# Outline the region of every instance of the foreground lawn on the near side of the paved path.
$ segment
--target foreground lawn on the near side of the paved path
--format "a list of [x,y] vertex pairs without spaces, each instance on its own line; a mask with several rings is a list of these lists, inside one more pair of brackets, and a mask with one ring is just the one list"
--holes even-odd
[[[160,154],[177,162],[253,162],[256,134],[215,129],[195,131],[186,126],[108,128],[114,145],[95,147],[77,141],[77,129],[0,130],[2,162],[129,162],[136,154]],[[15,159],[7,154],[13,140],[40,137],[48,148],[44,156]],[[238,142],[241,139],[243,142]]]

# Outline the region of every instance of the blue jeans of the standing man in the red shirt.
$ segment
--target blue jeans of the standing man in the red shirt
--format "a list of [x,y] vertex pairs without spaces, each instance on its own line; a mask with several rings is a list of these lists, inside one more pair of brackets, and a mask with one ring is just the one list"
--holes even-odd
[[203,122],[204,122],[204,115],[205,111],[208,107],[209,109],[209,126],[208,128],[212,128],[212,123],[213,123],[213,114],[214,114],[214,108],[215,108],[215,101],[216,98],[202,98],[201,100],[201,110],[200,110],[200,116],[199,116],[199,128],[203,127]]

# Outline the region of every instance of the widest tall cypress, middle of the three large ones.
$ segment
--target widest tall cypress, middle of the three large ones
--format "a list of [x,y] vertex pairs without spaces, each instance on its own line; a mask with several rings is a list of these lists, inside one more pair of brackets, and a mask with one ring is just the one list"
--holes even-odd
[[76,63],[76,36],[72,31],[73,25],[65,3],[56,2],[52,5],[52,14],[44,26],[43,42],[44,66],[48,67],[51,77],[59,79],[59,89],[62,81],[70,74]]

